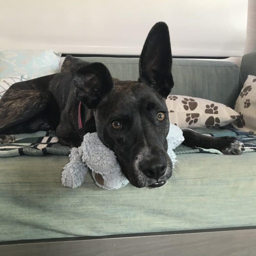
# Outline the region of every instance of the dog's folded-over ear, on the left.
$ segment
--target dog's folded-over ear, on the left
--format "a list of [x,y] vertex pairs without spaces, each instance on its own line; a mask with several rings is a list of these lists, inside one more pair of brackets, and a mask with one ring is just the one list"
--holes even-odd
[[76,99],[88,108],[96,108],[102,97],[113,88],[113,80],[102,63],[91,63],[73,75]]

